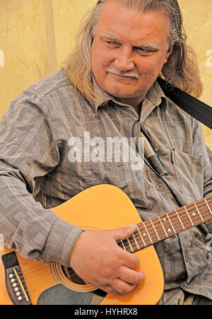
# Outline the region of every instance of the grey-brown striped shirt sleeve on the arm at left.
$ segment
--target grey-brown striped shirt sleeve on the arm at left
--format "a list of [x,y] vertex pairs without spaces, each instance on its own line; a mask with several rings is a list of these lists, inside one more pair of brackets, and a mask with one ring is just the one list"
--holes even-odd
[[60,161],[49,116],[42,99],[25,91],[0,122],[0,233],[25,258],[69,267],[83,230],[35,200],[42,177]]

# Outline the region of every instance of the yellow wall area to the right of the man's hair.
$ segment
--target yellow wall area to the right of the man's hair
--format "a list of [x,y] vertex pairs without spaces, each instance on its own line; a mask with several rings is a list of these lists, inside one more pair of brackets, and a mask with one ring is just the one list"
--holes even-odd
[[[194,48],[204,83],[200,100],[212,106],[212,1],[179,0],[189,44]],[[206,143],[212,149],[212,131],[204,127]]]

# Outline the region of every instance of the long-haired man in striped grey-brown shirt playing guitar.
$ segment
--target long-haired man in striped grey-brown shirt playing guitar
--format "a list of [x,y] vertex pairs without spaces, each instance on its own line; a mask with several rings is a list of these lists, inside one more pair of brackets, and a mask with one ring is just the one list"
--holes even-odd
[[[102,183],[124,190],[143,221],[212,194],[212,154],[201,125],[156,81],[163,74],[199,95],[190,54],[177,0],[98,2],[64,70],[21,93],[1,121],[0,233],[6,245],[23,257],[71,266],[106,292],[126,294],[143,281],[137,257],[117,246],[136,226],[84,232],[48,209]],[[83,139],[85,132],[130,138],[137,120],[168,170],[165,182],[148,166],[132,170],[126,161],[70,161],[71,138]],[[159,304],[211,303],[211,231],[208,222],[156,246],[165,275]]]

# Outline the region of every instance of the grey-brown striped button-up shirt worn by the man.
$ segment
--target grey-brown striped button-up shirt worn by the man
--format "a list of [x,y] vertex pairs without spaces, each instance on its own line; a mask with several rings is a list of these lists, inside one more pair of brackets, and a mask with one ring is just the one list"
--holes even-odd
[[[95,90],[97,100],[90,105],[59,70],[20,93],[0,122],[0,233],[23,257],[69,266],[82,229],[51,208],[93,185],[119,187],[143,221],[177,209],[172,192],[181,206],[212,194],[212,152],[201,124],[166,98],[157,82],[143,100],[141,115],[98,86]],[[130,139],[136,120],[169,172],[165,180],[172,192],[148,166],[132,169],[123,157],[115,161],[108,141]],[[135,137],[139,133],[137,124]],[[95,141],[95,148],[74,153],[73,141],[85,138]],[[110,161],[98,153],[98,141],[109,147],[104,156],[109,154]],[[73,161],[76,154],[79,161]],[[212,299],[208,233],[211,222],[155,247],[165,276],[162,303],[177,303],[180,289]]]

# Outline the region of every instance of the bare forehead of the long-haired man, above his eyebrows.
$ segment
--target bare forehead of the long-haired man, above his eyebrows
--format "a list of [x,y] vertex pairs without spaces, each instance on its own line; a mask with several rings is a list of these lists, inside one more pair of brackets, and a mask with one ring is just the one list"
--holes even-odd
[[170,20],[163,11],[137,11],[127,7],[124,1],[107,0],[95,31],[117,41],[119,37],[124,38],[124,34],[136,42],[141,37],[141,43],[135,44],[138,47],[146,44],[146,41],[143,43],[143,36],[148,36],[148,42],[152,42],[151,47],[157,49],[158,41],[154,41],[153,34],[160,33],[169,37]]

